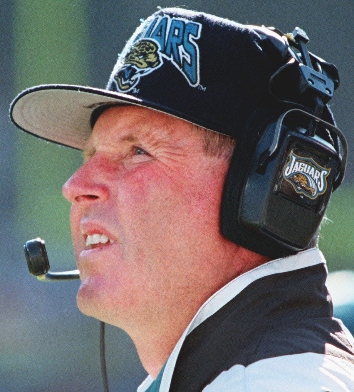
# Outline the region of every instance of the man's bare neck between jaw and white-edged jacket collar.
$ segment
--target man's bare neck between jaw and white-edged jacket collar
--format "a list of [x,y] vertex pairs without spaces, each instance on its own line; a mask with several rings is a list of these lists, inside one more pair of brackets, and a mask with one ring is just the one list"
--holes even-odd
[[[140,320],[136,330],[127,331],[146,371],[154,379],[158,376],[184,330],[210,296],[232,279],[267,261],[269,259],[264,256],[240,248],[239,258],[224,264],[223,268],[210,270],[209,273],[204,271],[204,276],[208,276],[206,281],[196,279],[194,284],[181,290],[170,306],[151,314],[145,322]],[[208,269],[208,266],[205,268]]]

